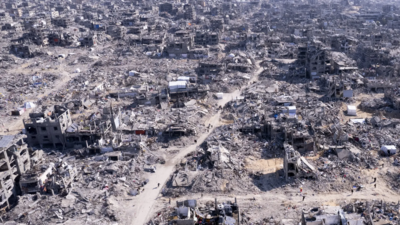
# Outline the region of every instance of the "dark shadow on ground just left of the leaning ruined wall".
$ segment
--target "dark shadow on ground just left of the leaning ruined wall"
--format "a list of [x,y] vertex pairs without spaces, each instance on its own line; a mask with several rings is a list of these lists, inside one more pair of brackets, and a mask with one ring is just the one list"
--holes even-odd
[[257,172],[249,174],[249,176],[254,186],[256,186],[260,191],[272,191],[287,184],[283,178],[283,169],[278,170],[275,173],[262,174]]

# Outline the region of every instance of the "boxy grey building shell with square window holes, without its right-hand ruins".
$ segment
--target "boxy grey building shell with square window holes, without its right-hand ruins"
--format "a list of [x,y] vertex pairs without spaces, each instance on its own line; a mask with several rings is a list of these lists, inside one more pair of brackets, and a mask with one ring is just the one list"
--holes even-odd
[[52,111],[30,113],[29,117],[23,120],[29,145],[65,146],[65,130],[72,124],[68,109],[54,106]]

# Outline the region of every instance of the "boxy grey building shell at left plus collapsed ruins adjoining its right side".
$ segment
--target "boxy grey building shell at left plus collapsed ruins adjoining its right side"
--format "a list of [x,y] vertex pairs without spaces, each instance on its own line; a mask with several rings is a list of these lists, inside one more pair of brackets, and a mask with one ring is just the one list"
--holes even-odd
[[30,118],[24,120],[24,126],[32,146],[84,147],[117,130],[121,124],[120,114],[118,109],[107,107],[101,115],[93,114],[89,124],[84,125],[71,120],[69,109],[56,105],[53,110],[31,113]]

